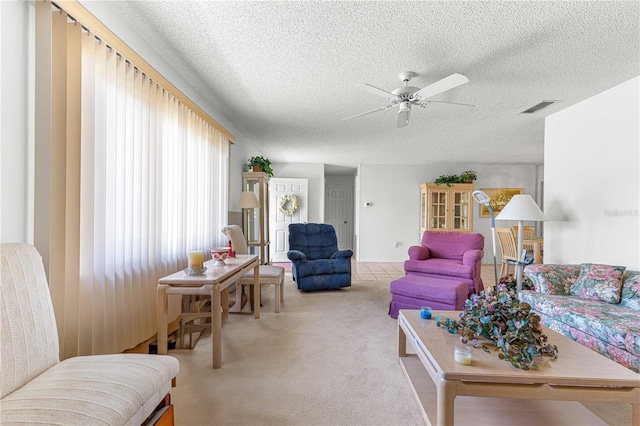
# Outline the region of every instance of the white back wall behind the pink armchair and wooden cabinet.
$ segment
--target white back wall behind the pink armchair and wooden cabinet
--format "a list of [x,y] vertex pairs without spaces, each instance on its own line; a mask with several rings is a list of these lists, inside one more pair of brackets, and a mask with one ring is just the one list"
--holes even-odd
[[[358,176],[359,205],[356,211],[357,258],[363,262],[400,262],[408,258],[407,250],[420,241],[420,183],[433,182],[443,174],[474,170],[477,189],[523,188],[536,198],[538,167],[532,165],[438,165],[386,166],[360,165]],[[371,202],[367,207],[365,203]],[[511,226],[508,221],[496,226]],[[478,204],[473,212],[474,232],[485,237],[483,263],[493,262],[491,220],[480,217]],[[395,248],[395,243],[399,243]],[[498,249],[498,256],[500,252]]]

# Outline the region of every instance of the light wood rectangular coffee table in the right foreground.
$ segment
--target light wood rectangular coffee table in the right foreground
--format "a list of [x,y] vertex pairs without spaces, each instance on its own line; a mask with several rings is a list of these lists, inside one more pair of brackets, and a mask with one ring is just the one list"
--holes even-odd
[[[630,403],[632,422],[640,425],[640,374],[548,328],[545,334],[558,347],[558,358],[541,359],[537,371],[514,368],[499,359],[496,352],[485,353],[482,349],[472,349],[471,365],[458,364],[453,359],[453,348],[460,344],[459,336],[437,327],[438,315],[458,318],[454,311],[434,311],[432,320],[421,319],[416,310],[401,310],[398,316],[400,365],[428,423],[435,420],[438,426],[453,425],[455,399],[464,396],[490,397],[486,400],[495,402],[490,410],[506,407],[500,403],[504,400],[496,398]],[[407,343],[415,354],[407,352]],[[576,403],[578,406],[582,407]],[[508,410],[503,415],[509,415]],[[560,409],[558,415],[558,424],[568,424],[585,413]],[[476,419],[480,421],[482,417]],[[548,418],[546,423],[549,424]]]

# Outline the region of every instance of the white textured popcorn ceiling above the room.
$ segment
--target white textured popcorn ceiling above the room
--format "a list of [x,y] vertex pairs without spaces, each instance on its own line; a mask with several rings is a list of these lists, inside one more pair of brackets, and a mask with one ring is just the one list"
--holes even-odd
[[[540,164],[544,117],[640,75],[640,3],[600,1],[117,1],[123,20],[273,162]],[[469,83],[414,106],[398,74],[425,87]],[[520,111],[558,100],[535,114]]]

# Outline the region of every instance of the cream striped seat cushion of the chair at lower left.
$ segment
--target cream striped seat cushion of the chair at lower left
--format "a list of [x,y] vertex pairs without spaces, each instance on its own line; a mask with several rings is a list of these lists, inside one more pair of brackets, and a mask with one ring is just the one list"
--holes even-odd
[[4,397],[0,424],[139,425],[178,370],[171,356],[69,358]]

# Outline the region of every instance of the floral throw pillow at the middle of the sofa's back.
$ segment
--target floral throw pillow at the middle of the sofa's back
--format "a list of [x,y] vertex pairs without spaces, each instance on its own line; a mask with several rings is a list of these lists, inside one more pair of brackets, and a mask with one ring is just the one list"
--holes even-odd
[[571,285],[571,294],[583,299],[618,303],[625,269],[625,266],[582,263],[580,276]]

